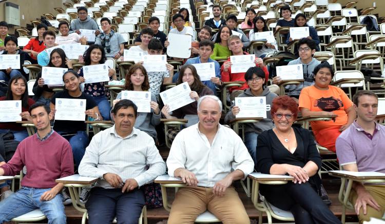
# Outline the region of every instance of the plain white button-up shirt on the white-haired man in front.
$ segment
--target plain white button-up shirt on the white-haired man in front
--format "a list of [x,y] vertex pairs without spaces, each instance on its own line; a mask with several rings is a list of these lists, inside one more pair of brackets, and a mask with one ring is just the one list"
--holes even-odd
[[168,175],[178,168],[195,174],[200,187],[214,187],[230,172],[239,169],[244,178],[253,172],[254,162],[242,139],[230,128],[218,124],[210,145],[198,129],[199,123],[183,129],[172,142],[167,158]]

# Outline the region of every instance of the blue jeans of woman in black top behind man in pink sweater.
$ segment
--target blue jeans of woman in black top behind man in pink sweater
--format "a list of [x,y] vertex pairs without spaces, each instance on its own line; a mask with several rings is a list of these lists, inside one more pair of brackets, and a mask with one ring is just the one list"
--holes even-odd
[[[64,131],[57,131],[59,135],[64,133]],[[73,159],[75,160],[76,166],[79,168],[80,161],[83,159],[83,155],[86,152],[86,147],[88,145],[88,136],[85,131],[78,131],[78,134],[75,136],[63,136],[67,139],[72,148]]]

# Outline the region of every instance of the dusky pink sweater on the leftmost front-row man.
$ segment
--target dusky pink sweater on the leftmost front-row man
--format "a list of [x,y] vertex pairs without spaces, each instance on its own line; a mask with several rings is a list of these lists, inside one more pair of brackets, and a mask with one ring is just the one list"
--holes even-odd
[[1,166],[5,176],[18,174],[23,167],[27,174],[22,186],[31,188],[53,188],[58,178],[73,175],[73,156],[69,142],[57,132],[40,141],[36,134],[23,140],[12,159]]

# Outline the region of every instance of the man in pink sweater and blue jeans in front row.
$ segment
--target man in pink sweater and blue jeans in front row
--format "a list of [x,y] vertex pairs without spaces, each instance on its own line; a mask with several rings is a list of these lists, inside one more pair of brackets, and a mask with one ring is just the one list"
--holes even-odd
[[42,210],[48,223],[66,223],[61,194],[64,186],[55,180],[73,174],[72,149],[51,129],[49,107],[35,103],[30,114],[37,133],[23,140],[12,159],[0,167],[0,176],[14,176],[27,168],[22,188],[0,202],[0,223],[35,209]]

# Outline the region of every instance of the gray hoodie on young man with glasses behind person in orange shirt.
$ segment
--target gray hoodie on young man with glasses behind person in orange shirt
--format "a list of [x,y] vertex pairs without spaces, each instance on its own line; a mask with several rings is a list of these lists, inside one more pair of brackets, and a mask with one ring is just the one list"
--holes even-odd
[[314,85],[314,78],[313,78],[313,71],[316,68],[318,64],[321,62],[315,58],[312,58],[312,60],[305,64],[301,61],[301,58],[298,58],[297,60],[292,60],[290,61],[287,65],[292,65],[292,64],[302,64],[302,69],[303,69],[303,79],[305,80],[304,82],[301,82],[298,85],[288,85],[286,88],[289,90],[289,96],[291,97],[296,97],[299,98],[299,94],[302,91],[302,88],[306,86],[311,86]]

